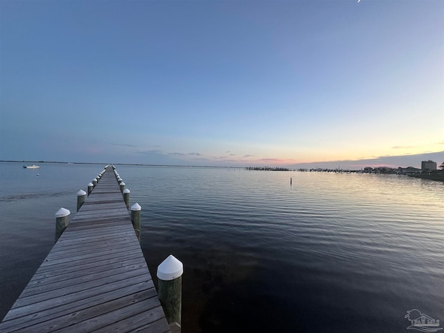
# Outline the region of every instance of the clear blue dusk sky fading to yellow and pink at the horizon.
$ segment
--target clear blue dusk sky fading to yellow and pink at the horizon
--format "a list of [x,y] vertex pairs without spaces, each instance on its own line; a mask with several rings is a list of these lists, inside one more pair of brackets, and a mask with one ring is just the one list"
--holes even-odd
[[0,0],[0,160],[429,159],[442,0]]

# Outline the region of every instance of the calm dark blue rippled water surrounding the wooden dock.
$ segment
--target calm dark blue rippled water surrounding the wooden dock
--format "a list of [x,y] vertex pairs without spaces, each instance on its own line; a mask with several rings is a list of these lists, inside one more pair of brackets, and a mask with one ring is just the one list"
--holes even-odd
[[[102,164],[0,163],[0,317]],[[444,184],[403,176],[117,166],[148,266],[185,268],[182,332],[410,332],[444,323]],[[37,176],[39,173],[39,176]],[[293,186],[290,186],[290,177]],[[442,327],[442,325],[441,325]]]

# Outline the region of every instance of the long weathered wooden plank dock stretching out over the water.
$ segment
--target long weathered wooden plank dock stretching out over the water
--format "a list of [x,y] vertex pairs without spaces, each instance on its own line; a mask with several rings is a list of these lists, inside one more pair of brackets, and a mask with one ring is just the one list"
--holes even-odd
[[170,332],[111,167],[0,332]]

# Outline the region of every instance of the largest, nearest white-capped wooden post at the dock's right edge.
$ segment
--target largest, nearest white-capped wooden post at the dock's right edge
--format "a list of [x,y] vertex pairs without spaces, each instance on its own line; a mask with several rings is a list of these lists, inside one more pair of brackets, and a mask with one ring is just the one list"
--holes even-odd
[[180,330],[182,325],[182,274],[183,264],[173,255],[157,267],[157,292],[172,331]]

